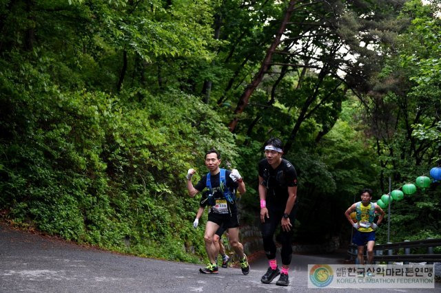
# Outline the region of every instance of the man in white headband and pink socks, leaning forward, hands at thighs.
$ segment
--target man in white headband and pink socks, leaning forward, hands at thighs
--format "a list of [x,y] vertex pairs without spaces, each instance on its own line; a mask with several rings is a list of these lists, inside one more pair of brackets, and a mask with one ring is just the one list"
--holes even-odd
[[280,274],[276,261],[276,243],[273,236],[280,225],[282,244],[282,272],[276,285],[289,284],[288,270],[292,256],[292,224],[297,211],[297,174],[294,166],[282,158],[282,142],[271,138],[265,142],[265,159],[258,163],[260,221],[262,222],[263,248],[269,268],[262,276],[262,283],[271,283]]

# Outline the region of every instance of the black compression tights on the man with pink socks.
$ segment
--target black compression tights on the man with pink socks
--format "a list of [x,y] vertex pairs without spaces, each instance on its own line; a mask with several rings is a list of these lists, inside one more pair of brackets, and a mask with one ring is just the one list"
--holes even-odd
[[[265,223],[262,224],[262,239],[263,239],[263,249],[265,250],[265,254],[267,254],[268,259],[276,258],[276,243],[274,243],[274,232],[276,232],[276,228],[280,226],[280,221],[282,219],[282,215],[278,215],[275,217],[274,214],[271,215],[269,212],[269,219],[265,219]],[[291,224],[294,223],[294,219],[291,219]],[[284,265],[289,265],[291,263],[292,257],[292,243],[291,237],[293,235],[292,228],[289,232],[285,232],[280,227],[280,233],[277,237],[280,244],[282,244],[282,263]]]

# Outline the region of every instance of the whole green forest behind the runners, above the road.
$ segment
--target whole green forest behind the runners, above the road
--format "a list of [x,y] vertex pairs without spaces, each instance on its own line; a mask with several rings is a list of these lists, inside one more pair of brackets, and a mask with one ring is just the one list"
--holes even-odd
[[[16,226],[201,261],[187,169],[198,180],[218,149],[255,225],[274,136],[298,172],[294,241],[348,243],[361,188],[376,200],[440,162],[438,0],[0,0],[0,32],[0,215]],[[440,199],[433,182],[393,202],[391,241],[440,238]]]

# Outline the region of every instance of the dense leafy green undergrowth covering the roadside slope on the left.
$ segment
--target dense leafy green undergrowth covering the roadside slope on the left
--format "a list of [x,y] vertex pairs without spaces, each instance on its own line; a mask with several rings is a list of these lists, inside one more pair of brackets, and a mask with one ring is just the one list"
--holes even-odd
[[[196,261],[186,252],[194,247],[201,257],[183,170],[202,166],[212,146],[234,162],[234,136],[216,113],[179,91],[61,91],[38,66],[23,67],[22,75],[1,76],[1,204],[8,218],[125,252]],[[18,91],[14,80],[21,78],[32,82]]]

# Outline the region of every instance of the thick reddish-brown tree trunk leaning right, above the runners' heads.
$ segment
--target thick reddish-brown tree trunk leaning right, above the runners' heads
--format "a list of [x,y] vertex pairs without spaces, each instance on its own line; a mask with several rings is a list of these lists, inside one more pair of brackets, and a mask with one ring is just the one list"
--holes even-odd
[[262,65],[260,65],[259,71],[254,76],[252,83],[250,83],[245,91],[243,92],[242,96],[240,96],[239,101],[237,103],[236,109],[234,109],[234,118],[231,122],[229,122],[229,131],[234,131],[236,129],[237,123],[238,123],[238,115],[240,113],[243,113],[245,107],[247,107],[249,98],[253,94],[254,90],[258,87],[260,81],[262,81],[263,76],[267,73],[270,65],[271,65],[271,59],[276,51],[276,48],[280,44],[280,39],[283,36],[283,33],[285,32],[285,28],[287,26],[287,23],[289,22],[289,19],[291,18],[291,14],[294,10],[294,4],[296,3],[295,0],[289,1],[289,5],[287,8],[287,11],[285,12],[285,16],[283,17],[283,21],[280,24],[280,28],[276,34],[276,37],[274,38],[273,43],[267,50],[267,54],[263,60]]

